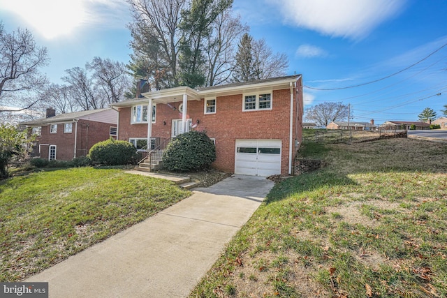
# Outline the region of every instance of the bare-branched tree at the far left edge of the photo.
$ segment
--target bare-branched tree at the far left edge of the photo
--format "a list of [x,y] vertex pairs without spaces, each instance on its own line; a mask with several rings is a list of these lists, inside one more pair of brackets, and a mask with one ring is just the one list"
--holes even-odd
[[38,100],[32,96],[47,84],[38,70],[48,64],[47,49],[38,47],[27,29],[6,33],[0,23],[0,103],[18,102],[26,109]]

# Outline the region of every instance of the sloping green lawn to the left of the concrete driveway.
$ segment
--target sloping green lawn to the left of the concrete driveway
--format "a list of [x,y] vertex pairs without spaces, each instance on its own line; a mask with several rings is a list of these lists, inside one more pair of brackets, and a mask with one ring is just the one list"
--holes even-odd
[[78,167],[0,181],[0,281],[20,281],[186,198],[170,181]]

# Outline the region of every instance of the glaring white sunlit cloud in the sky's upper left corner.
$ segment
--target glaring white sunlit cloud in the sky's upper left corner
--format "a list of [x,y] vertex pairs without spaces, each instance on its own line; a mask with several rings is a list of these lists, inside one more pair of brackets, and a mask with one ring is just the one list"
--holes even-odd
[[[0,0],[1,9],[19,15],[47,39],[91,24],[116,24],[116,15],[129,11],[123,9],[124,4],[124,0]],[[115,18],[110,17],[111,10],[115,10]]]

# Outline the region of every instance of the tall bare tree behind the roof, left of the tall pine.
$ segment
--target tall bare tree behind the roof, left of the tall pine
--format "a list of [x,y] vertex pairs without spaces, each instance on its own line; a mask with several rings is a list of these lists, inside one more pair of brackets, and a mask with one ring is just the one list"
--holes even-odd
[[[186,0],[127,0],[131,6],[133,23],[129,25],[132,36],[131,47],[140,50],[144,45],[138,43],[136,36],[148,36],[156,43],[156,50],[161,50],[161,64],[168,66],[165,75],[168,87],[177,86],[177,58],[179,52],[179,24],[181,12]],[[153,57],[147,57],[153,58]]]

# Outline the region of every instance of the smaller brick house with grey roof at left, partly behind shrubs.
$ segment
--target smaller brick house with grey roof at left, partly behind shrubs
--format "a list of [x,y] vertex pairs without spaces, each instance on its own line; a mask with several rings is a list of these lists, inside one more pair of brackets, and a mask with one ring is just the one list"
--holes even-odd
[[111,108],[56,115],[47,109],[47,117],[22,122],[38,134],[36,156],[48,160],[71,161],[89,154],[97,142],[116,137],[118,112]]

